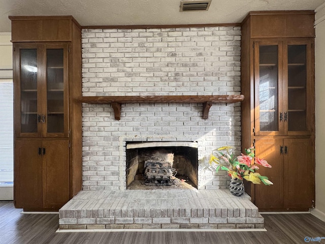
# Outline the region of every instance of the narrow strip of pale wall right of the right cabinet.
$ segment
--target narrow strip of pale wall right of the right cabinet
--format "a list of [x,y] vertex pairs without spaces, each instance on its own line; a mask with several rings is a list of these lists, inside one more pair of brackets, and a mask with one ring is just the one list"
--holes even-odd
[[315,19],[316,208],[312,213],[325,221],[325,4],[316,9]]

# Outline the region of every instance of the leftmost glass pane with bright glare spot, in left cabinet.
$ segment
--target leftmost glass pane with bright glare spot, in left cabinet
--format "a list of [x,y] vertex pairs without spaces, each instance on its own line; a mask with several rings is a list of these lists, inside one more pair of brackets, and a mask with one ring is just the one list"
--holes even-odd
[[20,49],[21,132],[37,133],[37,49]]

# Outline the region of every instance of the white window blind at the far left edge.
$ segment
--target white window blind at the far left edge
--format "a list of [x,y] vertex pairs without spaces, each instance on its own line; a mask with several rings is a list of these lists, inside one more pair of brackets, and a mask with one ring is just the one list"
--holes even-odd
[[0,187],[14,181],[13,82],[0,79]]

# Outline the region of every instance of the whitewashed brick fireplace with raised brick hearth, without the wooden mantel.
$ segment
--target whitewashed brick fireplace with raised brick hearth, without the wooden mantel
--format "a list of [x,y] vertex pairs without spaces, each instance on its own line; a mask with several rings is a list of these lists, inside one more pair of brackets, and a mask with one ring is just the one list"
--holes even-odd
[[[240,35],[233,26],[83,29],[83,96],[238,95]],[[199,102],[84,103],[83,191],[59,210],[60,230],[263,228],[249,196],[231,195],[229,176],[206,170],[213,149],[240,148],[240,103],[204,112]],[[142,143],[177,164],[188,157],[173,147],[184,142],[195,151],[178,171],[193,189],[126,190],[148,157]]]

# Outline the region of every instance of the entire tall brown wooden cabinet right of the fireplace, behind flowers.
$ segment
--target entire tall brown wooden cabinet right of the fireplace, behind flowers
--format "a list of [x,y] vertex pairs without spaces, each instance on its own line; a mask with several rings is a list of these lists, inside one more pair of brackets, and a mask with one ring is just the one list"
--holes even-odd
[[312,11],[271,11],[242,23],[242,149],[255,146],[272,165],[261,174],[274,183],[247,186],[260,210],[313,204],[313,22]]

